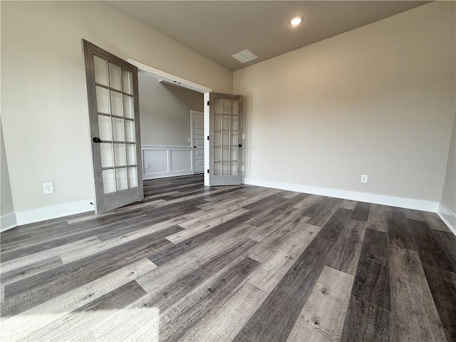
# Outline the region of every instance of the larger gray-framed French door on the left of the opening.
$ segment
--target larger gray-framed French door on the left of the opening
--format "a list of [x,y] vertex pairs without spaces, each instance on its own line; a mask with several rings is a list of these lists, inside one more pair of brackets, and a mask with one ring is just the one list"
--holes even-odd
[[83,40],[95,211],[140,201],[138,68]]

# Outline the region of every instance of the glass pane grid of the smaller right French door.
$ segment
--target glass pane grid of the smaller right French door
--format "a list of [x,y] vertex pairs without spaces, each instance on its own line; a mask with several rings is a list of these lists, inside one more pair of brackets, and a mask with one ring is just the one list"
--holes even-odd
[[239,100],[214,99],[214,175],[237,175]]

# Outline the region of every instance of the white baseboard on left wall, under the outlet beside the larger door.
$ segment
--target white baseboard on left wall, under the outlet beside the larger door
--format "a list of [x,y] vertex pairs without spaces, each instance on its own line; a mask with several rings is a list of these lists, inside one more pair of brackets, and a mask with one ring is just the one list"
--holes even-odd
[[95,207],[90,202],[93,203],[93,199],[23,210],[16,212],[16,222],[21,226],[22,224],[40,222],[46,219],[56,219],[57,217],[80,214],[81,212],[93,212]]

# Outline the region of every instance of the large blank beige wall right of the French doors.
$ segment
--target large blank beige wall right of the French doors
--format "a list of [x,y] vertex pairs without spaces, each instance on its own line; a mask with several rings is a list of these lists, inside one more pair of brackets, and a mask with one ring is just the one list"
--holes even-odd
[[455,3],[235,71],[233,86],[247,110],[245,177],[438,202],[455,113]]

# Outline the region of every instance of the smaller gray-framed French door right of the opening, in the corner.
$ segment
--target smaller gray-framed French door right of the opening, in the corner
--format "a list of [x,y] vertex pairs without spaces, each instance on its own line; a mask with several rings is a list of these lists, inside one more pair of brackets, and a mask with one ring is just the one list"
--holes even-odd
[[209,185],[242,181],[242,95],[209,94]]

